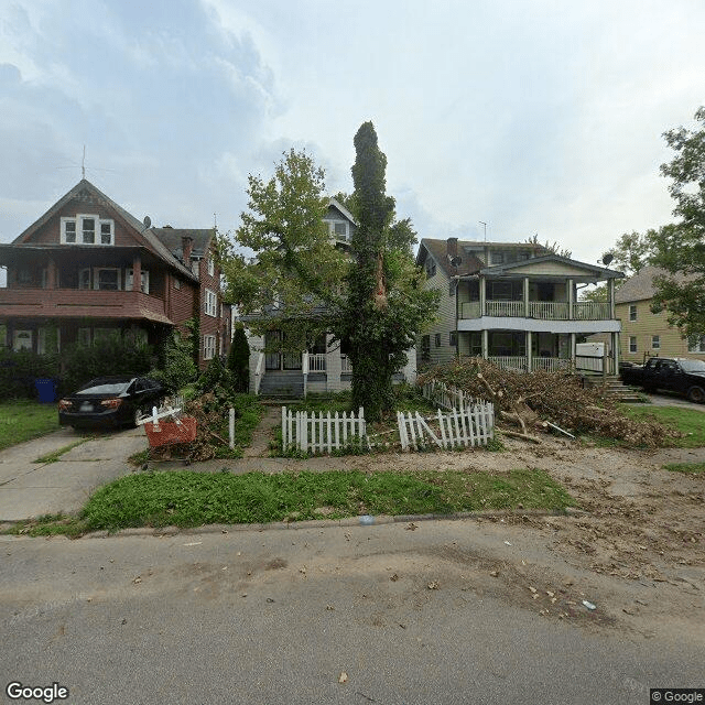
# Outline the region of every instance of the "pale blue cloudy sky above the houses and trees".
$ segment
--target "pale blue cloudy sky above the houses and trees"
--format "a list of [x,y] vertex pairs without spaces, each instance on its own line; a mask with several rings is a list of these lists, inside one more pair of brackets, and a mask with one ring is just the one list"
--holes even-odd
[[372,120],[420,237],[596,261],[669,221],[662,133],[705,104],[702,0],[0,0],[0,241],[82,176],[234,230],[305,148],[351,191]]

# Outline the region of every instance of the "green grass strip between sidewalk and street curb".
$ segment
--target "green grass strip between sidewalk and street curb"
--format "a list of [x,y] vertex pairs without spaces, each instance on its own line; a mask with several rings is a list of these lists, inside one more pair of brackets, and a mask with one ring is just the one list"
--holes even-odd
[[575,506],[565,489],[540,469],[506,474],[332,470],[276,475],[178,470],[121,477],[96,491],[78,518],[47,517],[18,524],[11,531],[76,535],[128,527],[186,528],[340,519],[360,513],[451,514]]

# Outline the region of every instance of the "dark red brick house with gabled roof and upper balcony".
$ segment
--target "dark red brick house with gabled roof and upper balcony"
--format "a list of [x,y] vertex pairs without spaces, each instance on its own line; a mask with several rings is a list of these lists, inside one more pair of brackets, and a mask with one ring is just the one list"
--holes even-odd
[[215,230],[153,228],[82,180],[0,245],[0,345],[48,352],[131,332],[151,345],[199,324],[204,368],[230,341]]

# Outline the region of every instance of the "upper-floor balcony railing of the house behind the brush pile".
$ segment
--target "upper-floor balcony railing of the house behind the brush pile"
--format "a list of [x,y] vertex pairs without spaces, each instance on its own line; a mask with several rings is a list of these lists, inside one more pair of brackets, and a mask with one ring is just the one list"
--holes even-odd
[[[607,302],[581,301],[573,304],[573,321],[609,321],[610,305]],[[463,302],[460,318],[479,318],[481,315],[524,318],[523,301],[486,301],[482,314],[479,301]],[[543,321],[570,321],[570,306],[563,301],[530,301],[529,317]]]

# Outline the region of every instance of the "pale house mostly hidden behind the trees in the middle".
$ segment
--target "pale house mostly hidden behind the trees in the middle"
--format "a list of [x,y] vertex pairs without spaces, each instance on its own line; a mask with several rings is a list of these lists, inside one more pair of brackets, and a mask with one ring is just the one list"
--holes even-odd
[[[328,225],[330,243],[349,251],[357,223],[350,212],[335,198],[328,200],[328,209],[323,217]],[[242,316],[247,325],[262,314]],[[268,307],[264,316],[271,326],[263,335],[249,335],[250,344],[250,391],[256,394],[286,394],[303,397],[307,392],[330,392],[350,389],[352,367],[341,349],[340,343],[333,343],[333,335],[321,336],[305,350],[292,351],[276,327],[276,319],[286,312],[276,305]],[[413,382],[416,375],[415,350],[409,352],[409,361],[398,373],[399,380]]]

